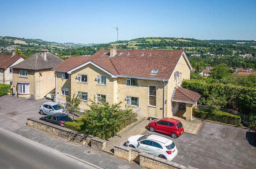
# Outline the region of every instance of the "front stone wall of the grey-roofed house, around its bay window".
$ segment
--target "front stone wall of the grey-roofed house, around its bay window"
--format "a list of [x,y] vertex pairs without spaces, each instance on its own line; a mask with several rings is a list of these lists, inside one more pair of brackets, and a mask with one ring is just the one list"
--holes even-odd
[[[35,95],[35,87],[36,87],[36,82],[35,82],[35,70],[27,70],[28,71],[28,76],[23,77],[20,76],[20,70],[24,69],[13,69],[13,91],[16,91],[15,96],[18,96],[20,98],[28,98],[29,94]],[[18,81],[22,82],[29,82],[29,94],[19,94],[18,91]]]

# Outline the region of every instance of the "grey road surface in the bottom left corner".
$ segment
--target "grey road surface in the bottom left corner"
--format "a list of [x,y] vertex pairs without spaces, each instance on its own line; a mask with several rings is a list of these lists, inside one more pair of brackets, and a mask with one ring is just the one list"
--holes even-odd
[[0,128],[0,168],[98,168]]

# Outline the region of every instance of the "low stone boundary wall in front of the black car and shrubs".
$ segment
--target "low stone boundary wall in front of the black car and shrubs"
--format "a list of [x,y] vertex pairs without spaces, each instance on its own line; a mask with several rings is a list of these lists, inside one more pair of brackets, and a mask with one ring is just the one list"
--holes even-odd
[[46,121],[36,119],[36,118],[32,118],[32,117],[27,118],[27,124],[30,127],[34,127],[36,129],[46,131],[53,135],[60,136],[62,138],[67,139],[68,141],[72,141],[80,144],[91,144],[92,148],[95,148],[98,150],[104,150],[106,147],[106,141],[99,139],[98,137],[79,133],[77,131],[67,129],[65,127],[61,127]]

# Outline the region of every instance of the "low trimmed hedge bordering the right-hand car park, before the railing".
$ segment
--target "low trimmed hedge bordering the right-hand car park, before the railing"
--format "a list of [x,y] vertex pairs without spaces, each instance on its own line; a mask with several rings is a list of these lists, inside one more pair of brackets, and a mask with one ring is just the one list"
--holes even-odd
[[238,115],[213,109],[196,109],[195,116],[204,120],[232,124],[235,126],[239,126],[241,122],[241,117]]

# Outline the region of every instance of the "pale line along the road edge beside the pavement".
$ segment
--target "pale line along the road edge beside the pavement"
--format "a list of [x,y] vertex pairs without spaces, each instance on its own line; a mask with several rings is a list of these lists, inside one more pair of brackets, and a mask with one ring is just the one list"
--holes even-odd
[[[0,128],[0,129],[4,130],[4,131],[6,131],[6,132],[12,133],[11,131],[8,131],[8,130],[3,129],[3,128]],[[30,139],[28,139],[28,138],[26,138],[26,137],[23,137],[23,136],[21,136],[21,135],[18,135],[18,134],[16,134],[16,133],[12,133],[12,134],[14,134],[14,135],[16,135],[16,136],[19,136],[19,137],[21,137],[21,138],[23,138],[23,139],[25,139],[25,140],[30,141],[30,142],[36,143],[36,144],[38,144],[38,145],[40,145],[40,146],[43,146],[43,147],[45,147],[45,148],[47,148],[47,149],[50,149],[50,150],[52,150],[52,151],[55,151],[55,152],[58,152],[58,153],[60,153],[60,154],[65,155],[65,156],[68,156],[68,157],[70,157],[70,158],[74,158],[74,159],[76,159],[77,161],[80,161],[80,162],[83,162],[83,163],[85,163],[85,164],[91,165],[91,166],[93,166],[93,167],[95,167],[95,168],[103,169],[103,168],[101,168],[101,167],[99,167],[99,166],[97,166],[97,165],[94,165],[94,164],[90,163],[90,162],[84,161],[83,159],[80,159],[80,158],[77,158],[77,157],[75,157],[75,156],[72,156],[72,155],[69,155],[69,154],[60,152],[60,151],[58,151],[58,150],[52,149],[52,148],[50,148],[50,147],[47,147],[47,146],[45,146],[45,145],[43,145],[43,144],[40,144],[40,143],[37,143],[37,142],[35,142],[34,140],[30,140]]]

